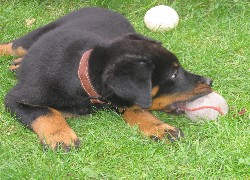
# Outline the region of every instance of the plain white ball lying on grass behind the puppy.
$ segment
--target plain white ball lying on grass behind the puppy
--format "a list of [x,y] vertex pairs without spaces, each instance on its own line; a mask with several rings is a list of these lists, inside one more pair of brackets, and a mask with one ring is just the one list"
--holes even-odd
[[152,31],[164,32],[178,25],[179,16],[177,12],[165,5],[155,6],[149,9],[144,16],[145,25]]

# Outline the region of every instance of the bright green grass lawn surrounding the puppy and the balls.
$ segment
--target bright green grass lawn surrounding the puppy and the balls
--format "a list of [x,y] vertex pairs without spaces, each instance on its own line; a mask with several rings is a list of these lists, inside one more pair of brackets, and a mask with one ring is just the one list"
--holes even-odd
[[[178,27],[150,32],[147,9],[174,7]],[[15,84],[12,57],[0,57],[0,179],[249,179],[250,178],[250,5],[248,0],[207,1],[24,1],[1,0],[0,41],[7,42],[72,10],[103,6],[122,13],[136,30],[161,40],[183,66],[214,80],[230,112],[216,122],[193,123],[156,113],[180,127],[185,139],[154,143],[113,112],[69,121],[82,141],[69,153],[43,151],[35,134],[4,111],[4,96]],[[35,18],[31,26],[26,19]],[[238,112],[247,109],[243,115]]]

